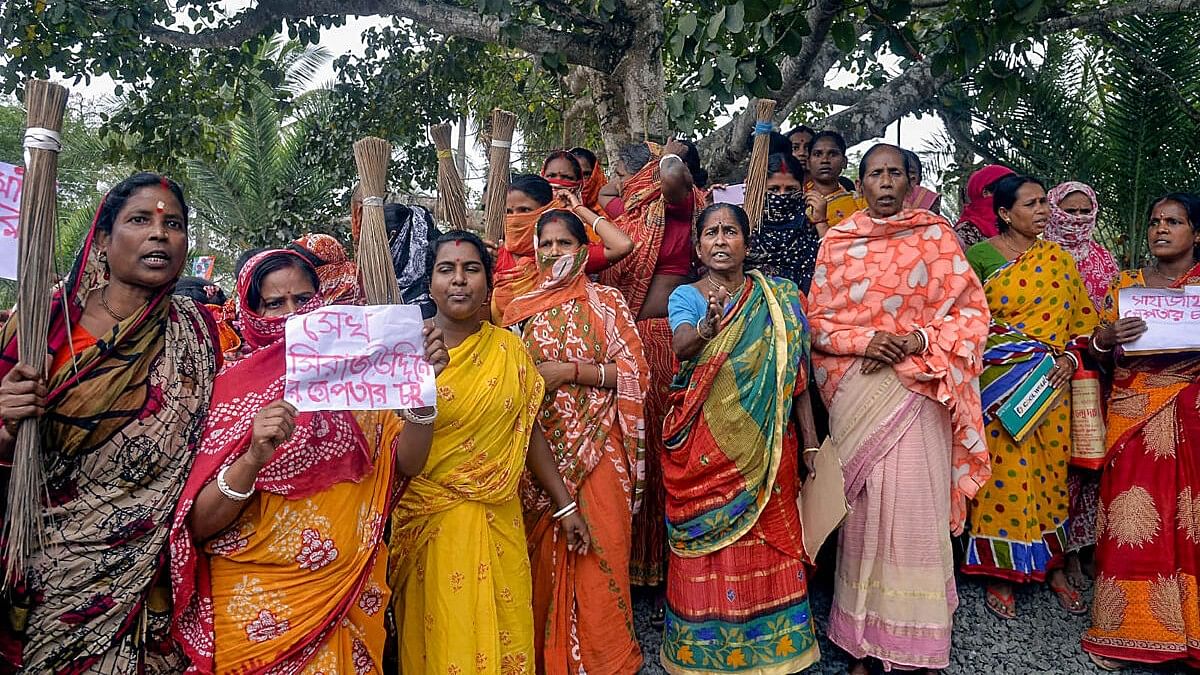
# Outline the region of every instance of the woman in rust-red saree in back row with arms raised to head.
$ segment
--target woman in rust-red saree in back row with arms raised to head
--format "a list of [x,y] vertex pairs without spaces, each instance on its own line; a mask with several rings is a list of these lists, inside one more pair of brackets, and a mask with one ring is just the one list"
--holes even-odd
[[[666,530],[662,520],[662,416],[667,389],[678,362],[671,351],[667,299],[691,275],[691,226],[704,208],[704,192],[679,159],[678,142],[662,149],[638,143],[622,149],[616,177],[600,202],[617,227],[636,243],[634,253],[600,275],[600,282],[620,291],[637,319],[650,382],[646,393],[646,498],[634,519],[630,579],[656,586],[665,579]],[[655,610],[655,621],[661,617]]]

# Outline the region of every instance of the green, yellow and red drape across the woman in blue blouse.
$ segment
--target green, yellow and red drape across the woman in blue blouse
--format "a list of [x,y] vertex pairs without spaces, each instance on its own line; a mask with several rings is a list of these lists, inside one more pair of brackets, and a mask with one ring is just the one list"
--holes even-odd
[[662,423],[667,543],[676,555],[733,544],[767,508],[792,396],[808,387],[808,336],[796,285],[751,270],[716,338],[680,364]]

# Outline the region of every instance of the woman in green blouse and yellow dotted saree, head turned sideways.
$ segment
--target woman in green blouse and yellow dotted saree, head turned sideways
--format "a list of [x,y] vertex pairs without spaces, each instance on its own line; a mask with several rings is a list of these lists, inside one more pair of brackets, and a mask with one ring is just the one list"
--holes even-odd
[[[1042,184],[1024,175],[992,184],[998,234],[967,250],[983,280],[992,329],[984,352],[986,437],[995,479],[976,495],[962,571],[991,578],[988,609],[1016,616],[1013,583],[1046,581],[1070,614],[1087,605],[1063,574],[1068,525],[1067,461],[1070,458],[1072,353],[1096,327],[1096,310],[1075,261],[1039,237],[1050,215]],[[1048,362],[1048,359],[1050,359]],[[1021,441],[998,417],[1001,406],[1043,362],[1057,400]]]

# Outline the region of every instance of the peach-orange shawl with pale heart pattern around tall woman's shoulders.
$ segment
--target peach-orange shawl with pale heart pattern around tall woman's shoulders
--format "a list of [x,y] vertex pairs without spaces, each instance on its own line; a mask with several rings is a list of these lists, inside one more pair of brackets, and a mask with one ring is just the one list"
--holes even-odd
[[979,390],[988,338],[983,287],[949,223],[925,210],[889,219],[859,211],[826,234],[810,301],[814,375],[826,402],[878,330],[923,330],[929,344],[892,366],[910,390],[937,401],[953,426],[950,526],[991,476]]

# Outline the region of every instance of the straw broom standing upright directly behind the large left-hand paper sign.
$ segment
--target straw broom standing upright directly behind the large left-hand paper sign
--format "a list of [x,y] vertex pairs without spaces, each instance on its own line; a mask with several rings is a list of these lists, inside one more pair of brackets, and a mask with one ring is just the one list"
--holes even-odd
[[359,277],[371,305],[400,304],[396,268],[388,245],[388,225],[383,220],[383,198],[388,193],[388,165],[391,143],[366,137],[354,144],[354,163],[359,167],[362,190],[362,231],[359,234]]

